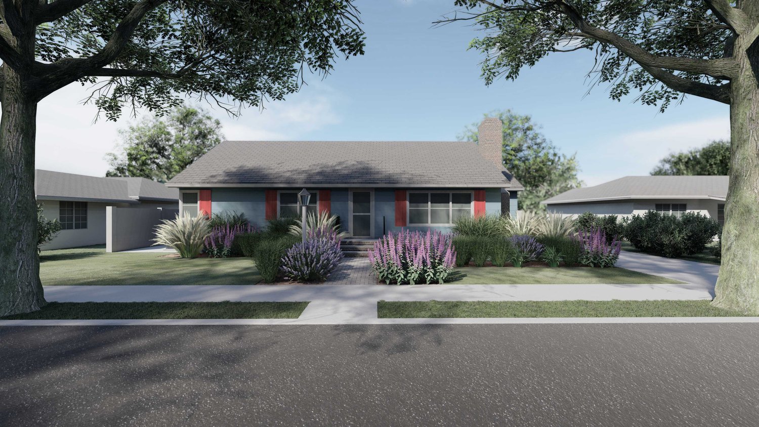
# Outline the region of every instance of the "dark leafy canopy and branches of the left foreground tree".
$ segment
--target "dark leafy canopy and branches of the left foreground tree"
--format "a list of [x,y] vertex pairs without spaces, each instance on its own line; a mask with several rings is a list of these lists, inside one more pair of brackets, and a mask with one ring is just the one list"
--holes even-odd
[[[112,120],[125,106],[165,114],[188,94],[230,111],[283,99],[306,71],[329,73],[337,55],[364,52],[351,0],[32,3],[36,97],[93,83],[90,100]],[[6,10],[13,30],[11,18]],[[20,68],[2,48],[5,64]]]

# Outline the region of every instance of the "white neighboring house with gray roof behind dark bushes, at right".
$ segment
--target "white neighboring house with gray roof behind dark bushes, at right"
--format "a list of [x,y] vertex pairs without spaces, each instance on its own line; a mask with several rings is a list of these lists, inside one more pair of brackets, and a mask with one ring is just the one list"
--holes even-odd
[[655,210],[671,215],[701,212],[723,224],[726,176],[622,177],[594,187],[575,188],[543,201],[549,212],[578,215],[632,215]]

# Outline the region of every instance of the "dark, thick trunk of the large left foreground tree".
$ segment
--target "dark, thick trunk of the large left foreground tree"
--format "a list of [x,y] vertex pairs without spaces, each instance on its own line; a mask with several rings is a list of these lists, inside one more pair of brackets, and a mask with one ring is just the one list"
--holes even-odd
[[0,316],[31,312],[46,304],[39,281],[34,137],[36,100],[20,76],[2,68],[0,119]]

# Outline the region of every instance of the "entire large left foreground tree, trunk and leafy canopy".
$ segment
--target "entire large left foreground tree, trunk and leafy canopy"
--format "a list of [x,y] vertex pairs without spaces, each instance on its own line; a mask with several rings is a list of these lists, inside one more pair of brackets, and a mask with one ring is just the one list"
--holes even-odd
[[352,0],[4,0],[0,3],[0,316],[45,304],[36,255],[37,103],[92,83],[106,118],[186,96],[231,113],[297,91],[364,52]]

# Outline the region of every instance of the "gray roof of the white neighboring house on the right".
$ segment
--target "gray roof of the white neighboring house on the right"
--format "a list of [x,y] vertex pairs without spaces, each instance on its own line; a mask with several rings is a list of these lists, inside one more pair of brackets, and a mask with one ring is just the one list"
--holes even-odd
[[575,188],[543,201],[581,203],[620,199],[720,199],[727,197],[726,176],[621,177],[594,187]]

